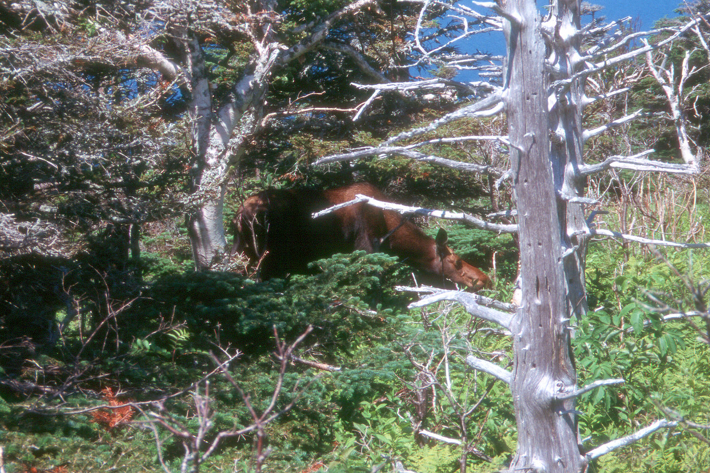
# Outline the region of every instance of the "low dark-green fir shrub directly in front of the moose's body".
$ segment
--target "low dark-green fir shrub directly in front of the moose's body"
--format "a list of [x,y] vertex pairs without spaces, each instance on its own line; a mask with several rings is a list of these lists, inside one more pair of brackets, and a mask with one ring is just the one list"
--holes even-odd
[[[185,323],[180,338],[192,350],[209,350],[205,342],[216,339],[249,354],[271,349],[274,327],[293,338],[313,325],[312,338],[320,343],[347,344],[351,333],[383,323],[388,311],[406,301],[391,289],[399,277],[392,257],[354,252],[313,265],[318,274],[295,275],[288,282],[253,282],[223,272],[170,274],[158,279],[124,320],[143,339],[140,334],[152,327],[146,321],[171,318]],[[383,310],[378,316],[377,308]],[[155,343],[179,348],[169,337]]]

